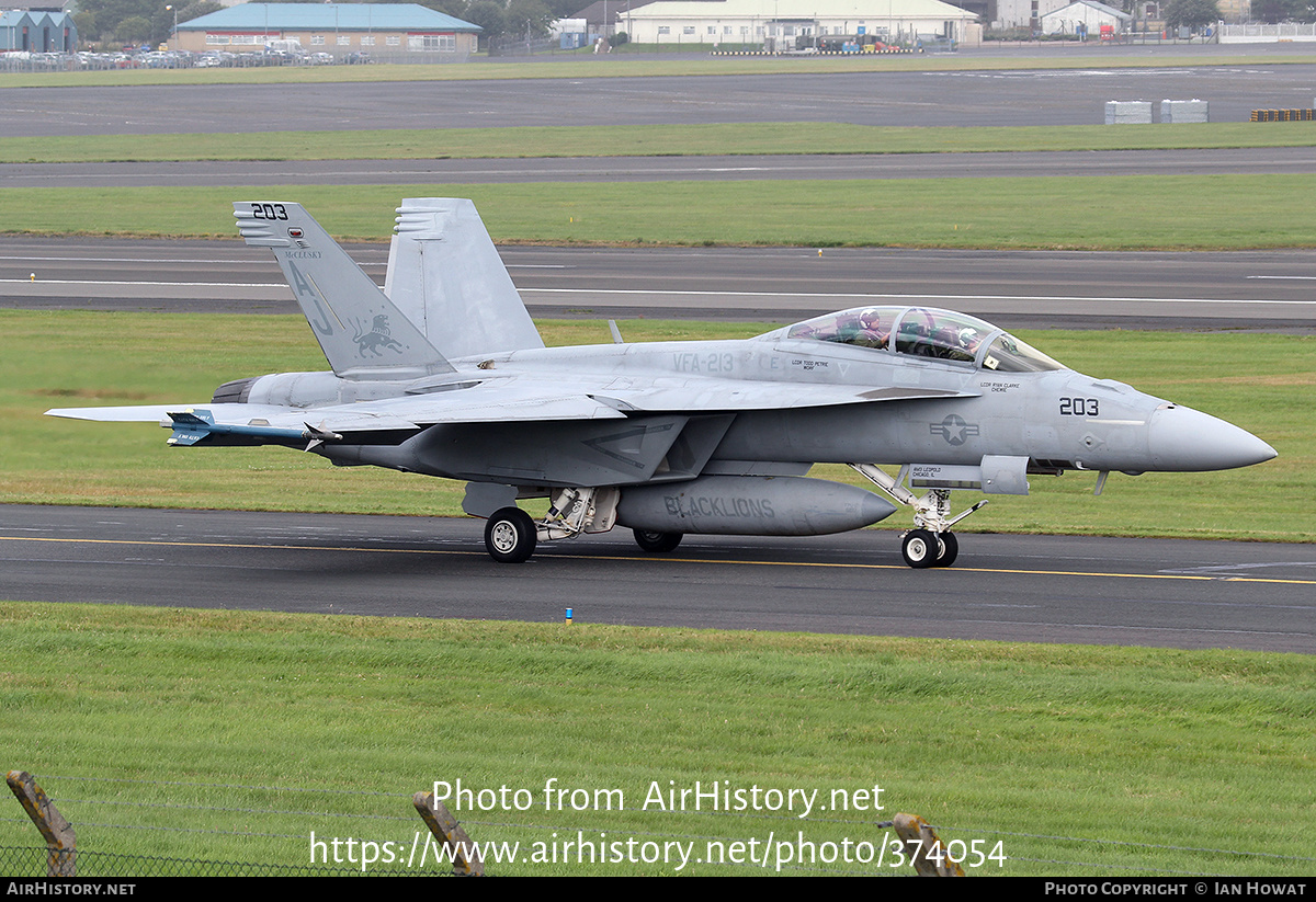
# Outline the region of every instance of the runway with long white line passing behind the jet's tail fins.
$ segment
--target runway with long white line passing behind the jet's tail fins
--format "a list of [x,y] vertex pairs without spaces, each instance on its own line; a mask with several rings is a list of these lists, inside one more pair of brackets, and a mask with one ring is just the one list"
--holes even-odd
[[[386,245],[349,251],[383,283]],[[534,316],[790,322],[863,304],[1008,329],[1316,325],[1316,252],[504,247]],[[232,242],[0,238],[0,306],[296,313],[271,256]]]

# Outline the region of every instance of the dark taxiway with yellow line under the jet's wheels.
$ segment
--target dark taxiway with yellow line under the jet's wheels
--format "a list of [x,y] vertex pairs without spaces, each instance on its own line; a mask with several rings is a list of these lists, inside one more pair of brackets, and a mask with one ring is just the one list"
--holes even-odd
[[0,505],[0,598],[1316,652],[1309,546],[961,535],[912,571],[896,533],[615,530],[495,564],[480,522]]

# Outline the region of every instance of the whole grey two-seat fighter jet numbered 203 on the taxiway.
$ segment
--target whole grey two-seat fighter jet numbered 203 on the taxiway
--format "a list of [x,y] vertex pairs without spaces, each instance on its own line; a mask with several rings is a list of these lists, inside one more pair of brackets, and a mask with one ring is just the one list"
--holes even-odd
[[[340,465],[468,483],[500,561],[613,526],[820,535],[913,510],[911,567],[955,560],[950,492],[1028,476],[1209,471],[1275,456],[1191,408],[1067,369],[962,313],[871,306],[746,341],[545,347],[468,200],[407,200],[380,291],[291,202],[234,204],[274,251],[332,372],[225,383],[208,404],[50,410],[159,423],[175,446],[280,444]],[[805,477],[845,463],[891,501]],[[886,465],[888,469],[883,469]],[[898,469],[895,475],[890,469]],[[920,494],[919,492],[923,492]],[[534,519],[519,498],[549,498]]]

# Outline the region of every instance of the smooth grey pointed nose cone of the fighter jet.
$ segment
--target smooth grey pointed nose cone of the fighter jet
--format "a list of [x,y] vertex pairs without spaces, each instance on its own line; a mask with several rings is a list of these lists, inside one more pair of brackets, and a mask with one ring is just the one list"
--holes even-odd
[[1252,433],[1192,408],[1163,406],[1152,414],[1150,469],[1233,469],[1270,460],[1275,450]]

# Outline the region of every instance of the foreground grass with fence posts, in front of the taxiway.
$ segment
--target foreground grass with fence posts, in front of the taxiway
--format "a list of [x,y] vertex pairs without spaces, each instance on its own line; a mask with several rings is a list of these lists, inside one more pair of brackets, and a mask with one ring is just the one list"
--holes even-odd
[[[459,813],[472,839],[522,849],[578,831],[697,856],[709,840],[880,844],[875,823],[907,811],[946,842],[1000,843],[1004,866],[974,874],[1316,865],[1300,655],[36,604],[0,604],[0,644],[5,764],[38,774],[84,855],[303,865],[312,831],[405,851],[411,794],[461,780],[534,794],[533,810]],[[551,778],[621,790],[625,810],[545,811]],[[655,784],[696,781],[824,805],[880,786],[883,811],[644,810]],[[9,805],[0,847],[36,845]],[[147,866],[121,861],[111,873]],[[775,868],[683,870],[753,872]]]

